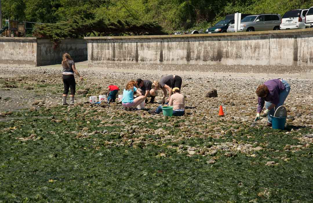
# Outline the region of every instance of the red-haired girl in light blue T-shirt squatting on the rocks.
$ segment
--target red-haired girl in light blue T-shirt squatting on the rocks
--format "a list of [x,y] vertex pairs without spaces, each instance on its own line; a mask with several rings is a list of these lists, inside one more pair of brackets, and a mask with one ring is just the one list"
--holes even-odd
[[[139,94],[139,96],[137,96],[135,99],[134,92]],[[127,110],[127,108],[138,106],[142,101],[145,101],[145,99],[146,97],[142,96],[139,89],[137,89],[135,81],[132,80],[126,84],[122,98],[122,106],[125,107],[125,110]]]

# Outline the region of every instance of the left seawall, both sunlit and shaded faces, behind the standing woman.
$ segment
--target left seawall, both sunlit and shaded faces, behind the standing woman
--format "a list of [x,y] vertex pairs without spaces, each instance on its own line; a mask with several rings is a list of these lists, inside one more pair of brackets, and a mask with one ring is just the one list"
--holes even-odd
[[60,64],[62,54],[69,53],[74,61],[87,60],[87,43],[84,39],[64,39],[54,49],[48,39],[1,37],[0,65],[35,67]]

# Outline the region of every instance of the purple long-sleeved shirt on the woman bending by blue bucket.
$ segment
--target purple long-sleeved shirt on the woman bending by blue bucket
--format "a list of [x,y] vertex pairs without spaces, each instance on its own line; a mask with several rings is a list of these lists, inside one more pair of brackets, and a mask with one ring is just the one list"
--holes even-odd
[[258,113],[262,111],[265,101],[270,101],[277,105],[279,103],[280,92],[285,90],[285,85],[278,79],[266,81],[264,82],[264,85],[269,89],[269,93],[265,97],[258,97]]

